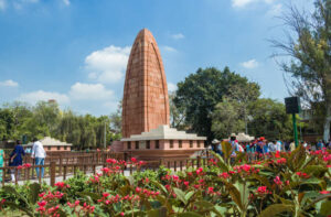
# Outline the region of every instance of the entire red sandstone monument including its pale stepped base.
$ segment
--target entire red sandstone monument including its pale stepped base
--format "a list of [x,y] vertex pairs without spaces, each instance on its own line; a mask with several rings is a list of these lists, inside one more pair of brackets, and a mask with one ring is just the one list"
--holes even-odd
[[131,47],[122,98],[120,149],[139,159],[188,158],[205,137],[169,127],[168,87],[158,44],[147,29]]

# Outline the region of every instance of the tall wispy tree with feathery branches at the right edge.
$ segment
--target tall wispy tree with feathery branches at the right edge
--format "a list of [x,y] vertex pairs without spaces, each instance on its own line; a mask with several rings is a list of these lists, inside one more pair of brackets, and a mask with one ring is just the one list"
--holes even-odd
[[[293,32],[287,42],[271,41],[291,57],[281,68],[292,79],[292,95],[300,96],[308,108],[322,105],[323,138],[330,138],[331,123],[331,0],[316,0],[312,14],[295,7],[284,17],[285,24]],[[292,35],[292,36],[291,36]],[[314,113],[314,112],[313,112]]]

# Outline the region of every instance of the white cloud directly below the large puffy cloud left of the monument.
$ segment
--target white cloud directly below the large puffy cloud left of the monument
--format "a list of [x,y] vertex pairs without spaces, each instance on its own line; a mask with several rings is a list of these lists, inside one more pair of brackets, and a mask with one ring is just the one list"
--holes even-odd
[[75,100],[105,100],[110,99],[114,93],[102,84],[76,83],[71,87],[70,97]]

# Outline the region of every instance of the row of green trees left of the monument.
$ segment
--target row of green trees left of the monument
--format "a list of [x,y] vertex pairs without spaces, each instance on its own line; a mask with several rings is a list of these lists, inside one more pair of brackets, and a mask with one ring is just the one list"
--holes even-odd
[[[7,104],[0,108],[0,139],[31,141],[34,137],[53,137],[74,144],[75,149],[104,147],[120,139],[120,107],[110,116],[79,116],[72,110],[62,111],[54,101],[39,101],[31,107],[23,102]],[[114,128],[115,129],[114,129]]]

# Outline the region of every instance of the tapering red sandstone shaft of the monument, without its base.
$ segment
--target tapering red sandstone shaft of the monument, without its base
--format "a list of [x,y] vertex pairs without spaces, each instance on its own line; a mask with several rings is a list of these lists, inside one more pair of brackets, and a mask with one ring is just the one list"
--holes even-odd
[[147,29],[132,45],[122,99],[122,137],[169,124],[169,99],[158,44]]

